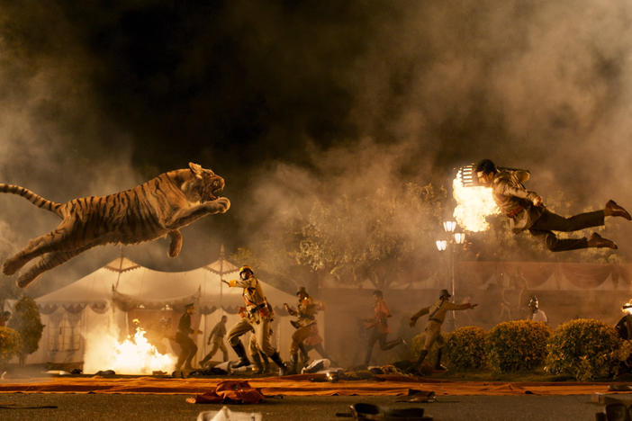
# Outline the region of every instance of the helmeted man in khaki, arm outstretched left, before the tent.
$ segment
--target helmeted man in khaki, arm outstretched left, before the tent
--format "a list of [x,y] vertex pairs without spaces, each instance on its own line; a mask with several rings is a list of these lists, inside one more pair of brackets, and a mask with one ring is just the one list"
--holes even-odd
[[[246,356],[246,348],[239,340],[239,336],[254,330],[258,348],[279,366],[279,375],[283,376],[287,368],[283,360],[281,360],[281,356],[270,342],[270,322],[273,317],[272,306],[267,302],[261,284],[255,277],[252,268],[243,266],[239,269],[239,280],[231,280],[230,282],[221,280],[221,282],[228,284],[230,287],[243,288],[242,297],[246,302],[245,317],[241,318],[230,329],[228,335],[230,346],[239,356],[239,363],[233,365],[233,368],[250,365],[248,356]],[[253,359],[257,359],[258,354],[252,354],[251,349],[251,356]]]

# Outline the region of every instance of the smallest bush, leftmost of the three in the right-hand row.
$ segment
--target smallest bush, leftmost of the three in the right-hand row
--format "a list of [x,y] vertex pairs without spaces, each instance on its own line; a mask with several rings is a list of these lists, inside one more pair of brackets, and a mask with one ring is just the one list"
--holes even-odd
[[447,335],[447,366],[457,371],[475,370],[485,365],[485,331],[481,327],[459,327]]

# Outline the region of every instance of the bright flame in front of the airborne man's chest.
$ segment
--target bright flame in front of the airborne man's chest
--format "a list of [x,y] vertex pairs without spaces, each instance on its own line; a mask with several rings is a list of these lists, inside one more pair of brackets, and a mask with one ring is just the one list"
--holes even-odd
[[480,232],[490,228],[485,217],[498,215],[493,201],[492,189],[480,185],[465,186],[457,176],[452,182],[452,195],[456,200],[454,217],[461,228],[467,231]]

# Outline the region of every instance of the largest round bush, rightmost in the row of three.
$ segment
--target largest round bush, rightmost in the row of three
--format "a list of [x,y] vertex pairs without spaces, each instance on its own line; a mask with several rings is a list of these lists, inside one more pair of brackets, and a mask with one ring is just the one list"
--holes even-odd
[[555,329],[546,346],[546,372],[579,381],[617,374],[622,341],[613,327],[592,318],[578,318]]

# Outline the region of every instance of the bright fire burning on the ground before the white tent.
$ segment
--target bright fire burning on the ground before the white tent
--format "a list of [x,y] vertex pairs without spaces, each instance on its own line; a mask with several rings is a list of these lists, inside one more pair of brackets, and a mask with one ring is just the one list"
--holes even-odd
[[113,370],[120,374],[151,374],[172,372],[176,357],[160,354],[156,346],[149,344],[145,330],[137,326],[134,336],[120,342],[113,335],[88,338],[84,372]]

